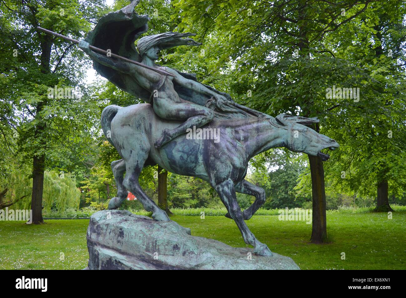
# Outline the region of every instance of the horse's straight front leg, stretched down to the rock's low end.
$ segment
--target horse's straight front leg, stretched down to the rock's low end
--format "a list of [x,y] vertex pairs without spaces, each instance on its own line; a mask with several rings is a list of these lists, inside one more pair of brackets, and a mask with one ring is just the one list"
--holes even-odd
[[237,202],[237,197],[235,197],[233,181],[231,179],[227,179],[222,183],[215,185],[214,189],[219,194],[221,201],[226,206],[231,218],[237,224],[238,229],[240,229],[242,238],[244,238],[244,242],[246,244],[251,244],[252,246],[254,246],[254,253],[256,255],[272,256],[272,253],[269,250],[268,246],[259,242],[244,222],[240,206]]

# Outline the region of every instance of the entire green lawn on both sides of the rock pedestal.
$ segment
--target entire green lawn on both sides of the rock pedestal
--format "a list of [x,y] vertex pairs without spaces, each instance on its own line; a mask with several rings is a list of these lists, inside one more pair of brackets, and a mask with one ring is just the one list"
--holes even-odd
[[[171,217],[192,235],[245,247],[235,223],[222,216]],[[0,221],[0,269],[82,269],[87,266],[89,220],[46,220],[44,225]],[[328,244],[309,243],[311,225],[253,216],[248,227],[270,250],[301,269],[406,269],[406,212],[327,214]],[[341,259],[345,253],[345,260]],[[64,259],[61,257],[64,256]],[[63,260],[61,260],[63,259]]]

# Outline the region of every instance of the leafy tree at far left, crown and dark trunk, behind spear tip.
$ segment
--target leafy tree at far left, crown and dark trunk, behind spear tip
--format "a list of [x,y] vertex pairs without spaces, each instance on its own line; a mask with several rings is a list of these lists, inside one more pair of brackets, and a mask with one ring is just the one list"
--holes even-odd
[[[32,222],[43,222],[42,198],[44,172],[47,161],[56,158],[55,143],[66,136],[66,128],[82,131],[89,110],[81,107],[75,98],[52,96],[50,88],[78,86],[83,78],[83,54],[80,50],[37,30],[37,26],[71,35],[80,39],[89,30],[96,16],[94,7],[103,7],[101,1],[79,4],[68,0],[32,0],[26,2],[2,1],[2,24],[6,24],[1,38],[12,45],[2,59],[4,70],[2,101],[18,111],[19,151],[32,160]],[[86,10],[88,8],[88,10]],[[13,55],[14,54],[14,55]],[[4,63],[10,60],[11,63]],[[74,68],[75,71],[71,71]],[[64,92],[62,92],[64,93]],[[59,95],[59,93],[58,93]],[[61,98],[62,97],[62,98]],[[84,122],[81,122],[84,121]],[[67,126],[63,127],[61,124]],[[71,126],[69,126],[71,125]]]

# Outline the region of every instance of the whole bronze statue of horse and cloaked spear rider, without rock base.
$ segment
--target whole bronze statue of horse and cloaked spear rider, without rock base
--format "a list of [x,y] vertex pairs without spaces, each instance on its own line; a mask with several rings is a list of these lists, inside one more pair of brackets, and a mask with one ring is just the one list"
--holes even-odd
[[[327,160],[329,156],[321,150],[339,145],[305,126],[318,122],[316,118],[284,114],[274,118],[236,104],[227,93],[199,83],[194,74],[156,65],[162,49],[200,44],[188,38],[190,33],[166,32],[143,37],[135,46],[148,28],[148,16],[134,13],[138,2],[102,17],[86,39],[79,42],[102,76],[147,102],[128,107],[112,105],[102,113],[103,132],[122,158],[111,164],[118,191],[117,197],[110,200],[109,209],[117,209],[127,196],[126,190],[130,190],[153,213],[153,219],[169,220],[138,183],[145,166],[158,164],[172,173],[209,182],[244,241],[254,246],[256,254],[272,255],[244,222],[265,202],[264,190],[244,179],[248,161],[273,147]],[[109,57],[92,48],[118,55]],[[205,137],[189,138],[185,132],[192,129],[201,129]],[[219,132],[218,142],[210,138],[213,130]],[[253,195],[255,202],[242,212],[235,192]]]

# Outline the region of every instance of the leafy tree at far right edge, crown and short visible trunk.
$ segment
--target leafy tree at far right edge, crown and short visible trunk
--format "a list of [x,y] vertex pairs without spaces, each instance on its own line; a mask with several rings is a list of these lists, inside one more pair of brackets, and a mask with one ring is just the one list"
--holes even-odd
[[405,191],[405,13],[404,5],[396,1],[372,3],[345,32],[337,32],[354,38],[337,37],[343,47],[336,55],[363,65],[373,79],[365,87],[376,90],[378,98],[374,106],[358,106],[358,114],[348,117],[346,129],[327,127],[332,137],[345,144],[333,156],[328,175],[341,189],[376,197],[376,211],[391,211],[388,193],[402,197]]

